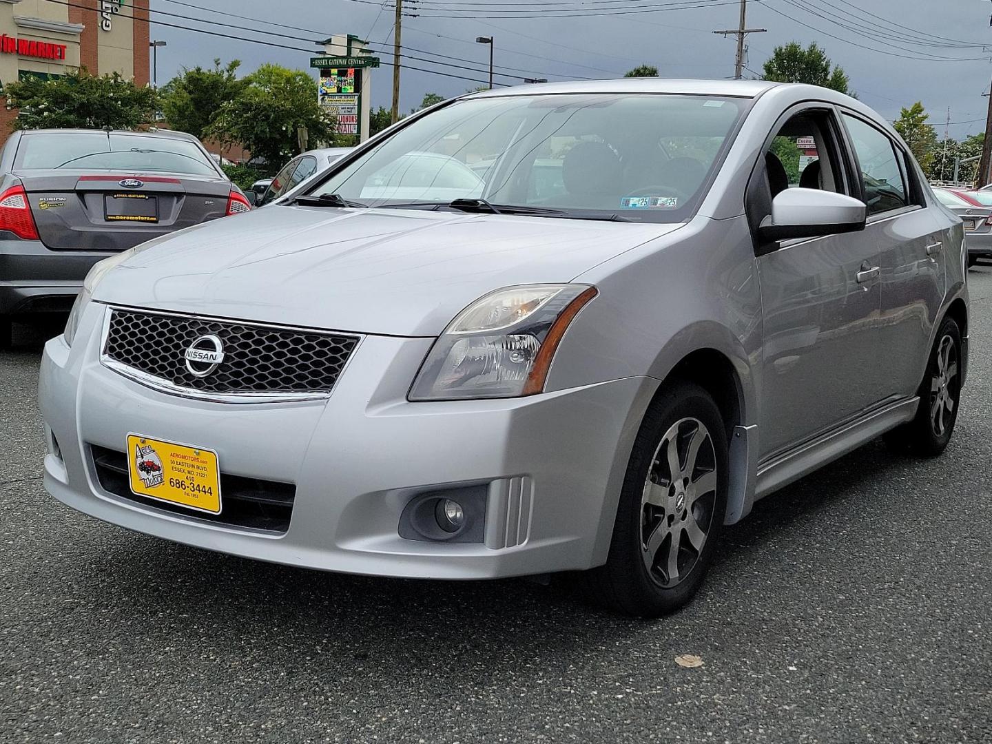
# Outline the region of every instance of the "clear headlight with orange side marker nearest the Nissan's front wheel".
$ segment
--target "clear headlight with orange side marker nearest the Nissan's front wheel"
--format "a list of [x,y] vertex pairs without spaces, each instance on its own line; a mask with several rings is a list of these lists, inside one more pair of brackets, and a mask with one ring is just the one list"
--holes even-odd
[[516,398],[540,393],[558,342],[594,287],[509,287],[462,310],[434,342],[411,401]]

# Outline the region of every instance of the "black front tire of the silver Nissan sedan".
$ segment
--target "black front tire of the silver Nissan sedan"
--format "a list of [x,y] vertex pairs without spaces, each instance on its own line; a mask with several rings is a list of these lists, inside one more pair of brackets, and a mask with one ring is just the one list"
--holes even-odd
[[[689,448],[695,441],[693,432],[701,434],[695,457]],[[687,476],[672,476],[671,460],[661,452],[663,446],[668,452],[666,442],[679,453],[685,468],[681,474],[688,472]],[[656,459],[658,454],[661,458]],[[698,385],[671,385],[652,403],[641,424],[620,494],[609,557],[605,565],[584,575],[590,597],[613,611],[638,617],[658,617],[688,603],[702,583],[723,526],[728,468],[727,434],[713,399]],[[710,470],[715,474],[710,475]],[[658,490],[651,489],[649,478]],[[696,550],[700,530],[703,542]],[[679,544],[673,551],[677,531]],[[656,545],[662,532],[668,536]],[[673,554],[675,580],[669,576]]]

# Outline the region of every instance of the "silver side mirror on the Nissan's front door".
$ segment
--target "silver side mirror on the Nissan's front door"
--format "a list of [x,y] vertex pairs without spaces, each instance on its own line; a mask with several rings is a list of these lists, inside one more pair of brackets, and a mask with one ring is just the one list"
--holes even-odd
[[868,207],[859,199],[819,188],[787,188],[772,200],[772,216],[758,228],[765,242],[815,238],[865,228]]

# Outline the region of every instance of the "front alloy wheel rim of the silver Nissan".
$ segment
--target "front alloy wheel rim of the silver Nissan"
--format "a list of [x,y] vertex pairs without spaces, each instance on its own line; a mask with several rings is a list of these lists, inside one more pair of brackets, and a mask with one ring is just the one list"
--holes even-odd
[[709,430],[698,419],[676,422],[655,450],[641,497],[641,558],[661,586],[682,582],[702,554],[716,484]]

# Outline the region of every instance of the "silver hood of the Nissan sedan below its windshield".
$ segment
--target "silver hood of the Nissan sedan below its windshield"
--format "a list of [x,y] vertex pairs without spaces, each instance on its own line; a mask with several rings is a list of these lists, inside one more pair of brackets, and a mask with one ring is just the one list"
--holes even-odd
[[94,299],[365,333],[436,335],[501,287],[568,282],[681,225],[268,206],[152,240]]

